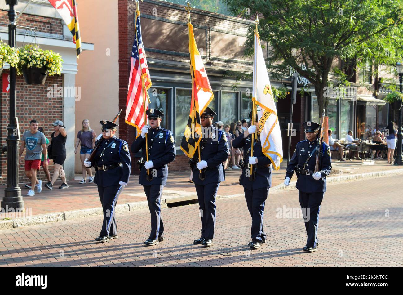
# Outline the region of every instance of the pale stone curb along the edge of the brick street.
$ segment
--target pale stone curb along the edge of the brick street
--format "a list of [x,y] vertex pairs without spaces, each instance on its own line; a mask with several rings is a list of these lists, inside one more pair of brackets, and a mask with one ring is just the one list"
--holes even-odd
[[[334,176],[334,177],[329,177],[326,182],[327,182],[327,184],[348,182],[348,181],[353,181],[353,180],[358,180],[358,179],[383,177],[383,176],[397,175],[397,174],[403,174],[403,169],[368,172],[368,173],[363,173],[363,174]],[[280,192],[280,191],[289,191],[289,190],[295,189],[296,183],[297,183],[296,181],[290,182],[290,185],[288,187],[286,187],[284,184],[276,185],[275,187],[270,188],[270,193]],[[235,195],[217,195],[216,198],[217,199],[226,199],[226,198],[232,198],[232,197],[243,197],[243,195],[244,195],[243,193],[239,193],[239,194],[235,194]],[[143,210],[143,209],[147,209],[147,208],[148,208],[148,203],[146,201],[133,202],[133,203],[117,205],[116,212],[131,212],[131,211]],[[168,208],[164,199],[161,200],[161,208]],[[16,218],[16,219],[12,219],[12,220],[0,220],[0,231],[12,229],[12,228],[19,228],[19,227],[23,227],[23,226],[39,225],[39,224],[59,222],[59,221],[64,221],[64,220],[74,220],[74,219],[78,219],[78,218],[100,216],[100,215],[102,215],[102,207],[34,215],[34,216],[30,216],[30,217]]]

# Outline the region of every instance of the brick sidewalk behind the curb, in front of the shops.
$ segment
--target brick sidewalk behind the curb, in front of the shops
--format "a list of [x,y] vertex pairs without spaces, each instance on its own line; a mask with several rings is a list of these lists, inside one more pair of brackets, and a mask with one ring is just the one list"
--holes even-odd
[[[280,170],[272,171],[272,187],[283,183],[285,177],[285,167],[287,160],[281,163]],[[386,160],[366,161],[362,164],[359,161],[354,162],[333,162],[334,171],[343,171],[343,173],[365,173],[371,171],[382,171],[398,169],[401,166],[392,166],[386,164]],[[231,170],[226,172],[226,179],[221,183],[218,189],[218,195],[234,195],[243,193],[243,187],[239,185],[238,179],[240,170]],[[168,175],[168,182],[165,190],[173,191],[190,191],[195,193],[195,186],[188,183],[190,171],[170,172]],[[340,174],[339,174],[340,175]],[[123,193],[119,196],[118,204],[126,204],[133,202],[143,202],[145,197],[133,196],[135,193],[143,193],[143,187],[138,184],[138,175],[132,175],[130,177],[129,184],[125,187]],[[293,177],[293,181],[296,177]],[[79,210],[87,208],[100,207],[100,201],[98,197],[98,190],[96,184],[87,183],[79,184],[79,181],[70,181],[68,189],[58,189],[61,181],[58,181],[54,185],[52,191],[43,187],[42,193],[36,193],[33,197],[25,196],[28,189],[20,184],[21,194],[25,201],[25,208],[31,210],[32,215],[47,214],[55,212],[65,212],[69,210]],[[0,187],[0,198],[4,195],[4,186]],[[17,215],[17,216],[16,216]],[[22,216],[19,214],[8,214],[8,218],[15,218]],[[0,220],[4,218],[4,214],[0,214]]]

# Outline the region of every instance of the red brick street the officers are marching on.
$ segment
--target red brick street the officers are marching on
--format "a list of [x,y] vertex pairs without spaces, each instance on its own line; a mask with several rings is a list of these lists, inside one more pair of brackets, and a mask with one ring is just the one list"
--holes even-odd
[[[328,185],[322,202],[318,252],[301,251],[301,218],[276,218],[298,208],[296,190],[277,191],[266,201],[267,241],[247,247],[251,218],[243,197],[217,200],[214,245],[193,245],[200,236],[198,205],[162,210],[166,240],[143,241],[148,210],[118,213],[119,238],[96,243],[101,217],[12,229],[0,233],[0,266],[402,266],[403,175]],[[400,184],[400,185],[399,185]],[[285,215],[285,213],[284,213]]]

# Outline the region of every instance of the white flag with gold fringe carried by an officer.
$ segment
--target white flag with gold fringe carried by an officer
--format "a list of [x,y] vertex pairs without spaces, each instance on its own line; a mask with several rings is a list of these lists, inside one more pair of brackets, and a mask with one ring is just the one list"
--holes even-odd
[[278,170],[283,161],[283,145],[277,108],[274,104],[272,87],[266,69],[266,62],[260,46],[259,33],[255,33],[255,56],[253,59],[253,93],[252,99],[257,105],[260,142],[262,152]]

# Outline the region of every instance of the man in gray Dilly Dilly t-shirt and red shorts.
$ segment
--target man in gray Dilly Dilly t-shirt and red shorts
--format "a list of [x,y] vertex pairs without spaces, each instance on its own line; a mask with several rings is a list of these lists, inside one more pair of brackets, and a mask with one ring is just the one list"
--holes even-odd
[[[36,120],[31,120],[29,123],[29,131],[24,132],[21,140],[21,149],[19,154],[20,164],[22,164],[21,156],[25,150],[25,146],[27,147],[24,163],[25,175],[31,179],[31,189],[28,191],[27,196],[34,196],[34,186],[38,193],[42,191],[42,180],[36,179],[36,171],[39,170],[41,165],[42,151],[45,159],[48,157],[48,151],[46,150],[46,138],[41,131],[38,131],[38,122]],[[44,161],[43,166],[48,166],[48,161]]]

